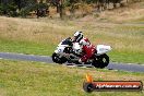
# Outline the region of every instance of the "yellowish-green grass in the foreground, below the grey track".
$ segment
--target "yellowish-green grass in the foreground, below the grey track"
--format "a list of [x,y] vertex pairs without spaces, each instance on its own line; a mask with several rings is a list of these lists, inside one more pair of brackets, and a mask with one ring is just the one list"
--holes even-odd
[[[64,65],[0,60],[0,96],[143,96],[141,92],[94,92],[82,85],[85,74],[96,81],[142,81],[143,73],[69,68]],[[129,75],[129,76],[128,76]]]

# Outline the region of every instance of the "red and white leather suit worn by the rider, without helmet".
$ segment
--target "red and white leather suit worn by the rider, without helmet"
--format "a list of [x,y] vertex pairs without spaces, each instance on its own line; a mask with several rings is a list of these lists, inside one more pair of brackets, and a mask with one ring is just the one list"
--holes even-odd
[[80,62],[86,62],[95,53],[96,49],[95,46],[93,46],[88,38],[82,38],[80,40],[80,45],[82,46],[82,50],[84,55],[79,60]]

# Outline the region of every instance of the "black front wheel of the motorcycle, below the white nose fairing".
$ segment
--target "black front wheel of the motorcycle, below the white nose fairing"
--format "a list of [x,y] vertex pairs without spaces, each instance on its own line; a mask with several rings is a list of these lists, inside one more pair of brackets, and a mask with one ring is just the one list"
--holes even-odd
[[67,59],[64,57],[59,57],[59,55],[57,55],[56,52],[52,53],[52,61],[59,64],[62,64],[64,62],[67,62]]

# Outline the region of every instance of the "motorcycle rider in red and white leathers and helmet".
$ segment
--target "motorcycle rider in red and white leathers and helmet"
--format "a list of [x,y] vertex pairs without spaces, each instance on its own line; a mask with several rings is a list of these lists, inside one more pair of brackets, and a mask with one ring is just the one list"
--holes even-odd
[[74,43],[79,43],[83,50],[83,56],[79,60],[80,63],[86,62],[96,51],[95,46],[93,46],[88,38],[83,37],[82,32],[75,32],[74,33]]

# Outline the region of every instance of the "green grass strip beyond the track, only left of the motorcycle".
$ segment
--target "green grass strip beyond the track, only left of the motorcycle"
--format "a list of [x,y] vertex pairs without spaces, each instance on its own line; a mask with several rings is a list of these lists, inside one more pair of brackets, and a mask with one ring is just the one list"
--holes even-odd
[[50,56],[53,52],[56,46],[52,44],[45,45],[31,41],[0,39],[0,51],[3,52]]

